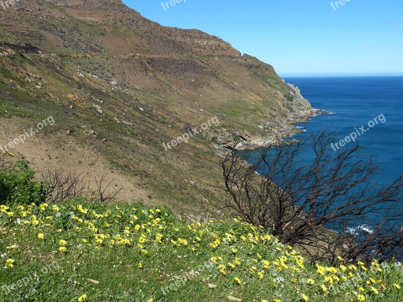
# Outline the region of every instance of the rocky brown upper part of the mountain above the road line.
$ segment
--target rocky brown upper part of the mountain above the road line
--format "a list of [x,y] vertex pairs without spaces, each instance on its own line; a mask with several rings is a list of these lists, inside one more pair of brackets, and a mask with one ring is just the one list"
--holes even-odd
[[[47,3],[47,5],[43,5],[43,3]],[[65,21],[71,21],[71,17],[83,20],[91,26],[94,26],[94,22],[110,22],[113,25],[119,24],[122,30],[126,31],[124,38],[128,37],[127,33],[135,36],[131,37],[129,41],[125,41],[126,43],[121,43],[122,40],[120,40],[120,48],[117,49],[111,49],[111,46],[107,45],[107,41],[105,42],[106,45],[103,45],[105,43],[102,41],[102,35],[95,37],[93,41],[91,41],[97,46],[97,48],[91,48],[87,45],[88,43],[85,43],[86,41],[81,41],[84,44],[81,45],[81,48],[85,50],[86,54],[110,54],[111,52],[114,54],[211,54],[234,56],[241,54],[228,42],[223,41],[217,36],[209,35],[199,30],[182,30],[174,27],[163,27],[156,22],[144,18],[138,12],[129,9],[122,2],[116,4],[110,1],[101,0],[90,2],[75,0],[34,0],[30,2],[16,3],[16,5],[11,7],[9,11],[13,9],[14,16],[8,16],[6,11],[6,22],[3,22],[3,26],[8,26],[10,31],[14,34],[24,33],[23,31],[19,31],[17,26],[13,26],[13,23],[18,23],[18,21],[14,19],[15,16],[28,16],[32,20],[27,20],[29,28],[25,28],[25,30],[30,30],[45,39],[58,38],[61,42],[67,42],[67,40],[63,41],[63,38],[58,36],[56,31],[44,27],[43,22],[40,21],[43,19],[54,19],[55,23],[63,24],[66,29],[69,28],[69,24]],[[34,22],[35,20],[38,22]],[[102,24],[102,27],[108,27],[108,25]],[[156,31],[158,31],[157,36],[155,35]],[[71,35],[75,34],[74,31],[69,31],[69,33]],[[138,35],[140,35],[140,37]],[[138,37],[138,39],[133,39],[136,37]],[[80,38],[76,39],[76,42],[80,42]],[[155,45],[153,45],[153,43],[155,43]],[[47,45],[42,45],[42,48],[46,49],[46,46]],[[61,54],[65,53],[66,50],[57,47],[56,45],[55,52]]]

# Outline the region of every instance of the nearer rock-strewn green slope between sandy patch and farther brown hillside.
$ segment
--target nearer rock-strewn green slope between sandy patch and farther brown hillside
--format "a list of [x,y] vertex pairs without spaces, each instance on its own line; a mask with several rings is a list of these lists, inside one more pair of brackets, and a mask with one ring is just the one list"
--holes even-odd
[[[178,212],[213,210],[211,204],[206,208],[205,198],[215,204],[222,195],[209,189],[209,184],[221,182],[219,158],[210,137],[195,136],[172,152],[166,152],[162,146],[162,142],[184,133],[183,128],[198,124],[181,120],[163,100],[147,93],[112,90],[110,85],[88,74],[86,79],[78,80],[76,72],[76,68],[52,56],[3,57],[0,61],[0,117],[10,118],[10,122],[20,117],[29,125],[52,115],[56,123],[43,133],[57,138],[70,129],[75,139],[95,147],[115,169],[124,171],[138,186],[147,189],[158,200],[156,202],[170,204]],[[37,83],[43,88],[36,88]],[[74,98],[69,99],[69,94]],[[93,104],[102,106],[104,117],[96,114]],[[69,109],[70,105],[75,109]],[[212,117],[210,113],[199,115],[204,116],[200,118],[204,121]],[[123,120],[131,122],[132,126],[124,125]],[[225,125],[225,118],[220,121]],[[83,125],[96,131],[98,138],[89,138]],[[107,138],[107,142],[102,142],[103,138]],[[18,147],[13,152],[18,156]],[[186,179],[196,181],[195,186],[185,183]]]

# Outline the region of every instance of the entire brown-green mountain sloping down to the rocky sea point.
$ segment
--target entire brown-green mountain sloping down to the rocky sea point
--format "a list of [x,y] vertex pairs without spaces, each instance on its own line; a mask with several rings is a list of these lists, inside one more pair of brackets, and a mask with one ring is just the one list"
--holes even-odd
[[[273,66],[118,0],[16,2],[0,11],[0,52],[0,144],[55,121],[3,162],[108,173],[120,198],[193,219],[216,215],[225,198],[212,186],[222,182],[219,155],[234,131],[257,147],[312,115]],[[213,118],[219,125],[192,132]]]

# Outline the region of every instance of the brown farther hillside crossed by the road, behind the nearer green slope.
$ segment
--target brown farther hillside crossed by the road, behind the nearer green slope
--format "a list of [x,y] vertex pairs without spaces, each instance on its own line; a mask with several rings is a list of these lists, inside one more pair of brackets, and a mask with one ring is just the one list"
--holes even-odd
[[[198,114],[203,109],[229,117],[225,126],[230,129],[262,137],[269,133],[260,124],[272,118],[287,122],[289,89],[273,67],[250,56],[236,57],[239,52],[224,41],[162,27],[119,1],[97,0],[82,9],[48,1],[25,5],[30,11],[4,13],[0,25],[14,34],[4,33],[1,40],[66,55],[65,61],[107,82],[160,99],[182,120],[205,122]],[[88,56],[70,57],[77,54]]]

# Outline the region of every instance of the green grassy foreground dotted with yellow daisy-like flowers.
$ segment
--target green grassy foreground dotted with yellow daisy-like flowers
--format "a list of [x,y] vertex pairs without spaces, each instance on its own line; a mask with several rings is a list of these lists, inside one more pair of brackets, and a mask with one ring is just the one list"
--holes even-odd
[[87,301],[228,301],[233,296],[291,302],[302,301],[302,293],[317,302],[356,301],[359,294],[366,301],[403,299],[397,286],[403,282],[401,265],[373,263],[367,271],[359,265],[345,271],[312,267],[251,225],[235,219],[186,224],[164,207],[80,200],[2,206],[0,233],[0,285],[38,275],[9,294],[0,291],[5,302],[77,301],[83,294]]

